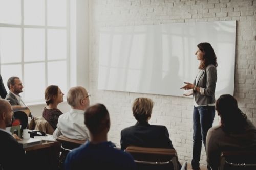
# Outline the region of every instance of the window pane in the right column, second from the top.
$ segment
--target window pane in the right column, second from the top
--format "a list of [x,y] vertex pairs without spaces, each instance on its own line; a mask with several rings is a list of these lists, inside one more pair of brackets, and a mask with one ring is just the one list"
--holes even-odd
[[66,30],[48,29],[47,55],[48,60],[66,59],[67,33]]

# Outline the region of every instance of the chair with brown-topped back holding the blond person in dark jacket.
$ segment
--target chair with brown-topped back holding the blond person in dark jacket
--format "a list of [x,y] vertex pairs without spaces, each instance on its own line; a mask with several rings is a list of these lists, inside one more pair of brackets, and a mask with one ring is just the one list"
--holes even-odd
[[[175,149],[129,146],[125,152],[129,152],[133,156],[138,169],[179,169]],[[187,162],[183,163],[181,169],[187,169]]]

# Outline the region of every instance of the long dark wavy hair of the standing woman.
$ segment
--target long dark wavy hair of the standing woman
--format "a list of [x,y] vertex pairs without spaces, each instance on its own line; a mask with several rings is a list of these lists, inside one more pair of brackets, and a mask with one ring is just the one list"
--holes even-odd
[[213,64],[215,67],[218,66],[217,57],[211,44],[208,42],[202,42],[198,44],[197,47],[204,53],[203,60],[199,65],[199,69],[205,69],[210,64]]

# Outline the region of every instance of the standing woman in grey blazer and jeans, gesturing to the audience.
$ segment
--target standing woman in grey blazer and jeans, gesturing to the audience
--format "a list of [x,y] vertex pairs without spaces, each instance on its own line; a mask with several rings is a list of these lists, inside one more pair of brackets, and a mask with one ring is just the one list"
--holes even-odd
[[193,159],[192,169],[199,168],[202,141],[205,147],[206,135],[215,116],[215,87],[217,81],[217,57],[214,49],[207,42],[197,45],[197,59],[200,60],[199,71],[194,83],[184,82],[181,89],[193,89]]

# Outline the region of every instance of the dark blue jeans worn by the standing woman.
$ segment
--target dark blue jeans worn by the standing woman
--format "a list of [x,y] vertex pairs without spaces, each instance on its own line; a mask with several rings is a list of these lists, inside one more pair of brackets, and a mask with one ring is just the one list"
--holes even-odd
[[214,122],[215,106],[194,106],[193,110],[193,159],[192,168],[199,169],[202,140],[205,147],[206,135]]

